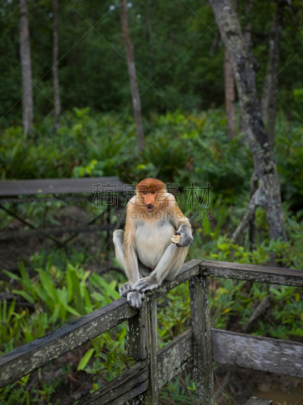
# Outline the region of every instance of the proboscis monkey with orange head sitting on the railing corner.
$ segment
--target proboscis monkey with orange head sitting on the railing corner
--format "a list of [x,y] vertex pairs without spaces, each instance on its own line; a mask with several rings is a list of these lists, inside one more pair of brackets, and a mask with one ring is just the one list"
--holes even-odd
[[113,234],[116,258],[128,279],[120,296],[140,308],[145,291],[176,277],[192,240],[189,220],[165,184],[153,178],[138,183],[126,207],[125,230]]

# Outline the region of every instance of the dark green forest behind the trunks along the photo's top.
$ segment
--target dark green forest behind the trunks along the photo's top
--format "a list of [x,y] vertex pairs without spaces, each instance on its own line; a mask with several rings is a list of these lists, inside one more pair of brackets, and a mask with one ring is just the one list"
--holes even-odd
[[[299,2],[237,2],[241,25],[259,65],[262,92],[272,22],[283,7],[278,108],[300,116],[302,106],[302,9]],[[28,2],[36,121],[53,111],[53,2]],[[20,124],[22,77],[19,7],[1,4],[0,125]],[[129,33],[135,49],[142,111],[146,117],[181,109],[224,105],[224,46],[208,2],[129,2]],[[59,79],[62,110],[131,108],[119,2],[59,2]],[[235,100],[236,101],[236,100]]]

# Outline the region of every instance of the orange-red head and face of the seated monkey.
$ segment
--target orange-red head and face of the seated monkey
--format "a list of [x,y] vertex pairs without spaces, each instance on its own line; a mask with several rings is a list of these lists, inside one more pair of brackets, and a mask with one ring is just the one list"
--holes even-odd
[[164,192],[166,192],[165,184],[161,180],[152,177],[140,181],[136,187],[140,204],[143,204],[148,211],[153,211],[159,207],[160,196]]

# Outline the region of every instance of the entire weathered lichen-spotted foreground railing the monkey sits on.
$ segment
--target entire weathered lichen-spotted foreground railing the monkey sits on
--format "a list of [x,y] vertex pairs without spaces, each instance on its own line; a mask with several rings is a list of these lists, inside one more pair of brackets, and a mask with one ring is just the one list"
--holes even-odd
[[[0,357],[0,386],[6,386],[126,321],[128,354],[138,361],[79,404],[157,404],[159,390],[194,365],[197,403],[214,403],[212,361],[303,378],[303,344],[210,328],[207,277],[303,287],[303,271],[238,263],[192,260],[177,278],[149,293],[142,310],[125,298],[99,308],[49,335]],[[191,329],[157,348],[156,299],[189,280]]]

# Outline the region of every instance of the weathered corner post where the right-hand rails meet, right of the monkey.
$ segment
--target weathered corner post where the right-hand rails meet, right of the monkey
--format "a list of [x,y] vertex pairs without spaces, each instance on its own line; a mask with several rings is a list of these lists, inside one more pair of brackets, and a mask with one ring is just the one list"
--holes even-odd
[[199,405],[214,404],[210,316],[207,277],[189,280],[196,400]]

